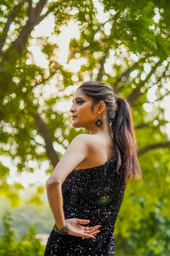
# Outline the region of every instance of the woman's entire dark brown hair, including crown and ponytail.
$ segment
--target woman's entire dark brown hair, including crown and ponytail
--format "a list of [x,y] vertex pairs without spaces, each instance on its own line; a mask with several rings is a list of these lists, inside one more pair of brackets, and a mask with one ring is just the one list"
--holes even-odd
[[78,89],[92,98],[92,112],[95,104],[105,102],[106,118],[117,155],[116,171],[120,177],[124,177],[126,184],[130,179],[142,179],[129,101],[116,95],[109,84],[100,81],[84,82]]

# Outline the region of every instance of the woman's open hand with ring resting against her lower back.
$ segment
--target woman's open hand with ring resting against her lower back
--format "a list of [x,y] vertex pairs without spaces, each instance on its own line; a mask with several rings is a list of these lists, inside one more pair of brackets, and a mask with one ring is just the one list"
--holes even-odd
[[72,218],[72,219],[66,219],[65,222],[68,225],[68,234],[79,236],[79,237],[85,237],[85,238],[94,238],[96,234],[100,232],[98,230],[101,228],[100,225],[94,226],[94,227],[84,227],[80,224],[88,224],[90,220],[84,220],[84,219],[78,219],[78,218]]

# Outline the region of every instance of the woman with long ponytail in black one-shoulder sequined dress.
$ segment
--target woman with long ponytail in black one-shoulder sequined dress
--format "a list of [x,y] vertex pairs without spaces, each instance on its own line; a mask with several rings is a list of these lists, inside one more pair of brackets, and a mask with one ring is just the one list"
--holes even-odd
[[[114,255],[114,227],[130,179],[142,179],[129,102],[103,82],[82,83],[73,97],[67,147],[46,182],[55,225],[44,256]],[[62,201],[63,198],[63,201]]]

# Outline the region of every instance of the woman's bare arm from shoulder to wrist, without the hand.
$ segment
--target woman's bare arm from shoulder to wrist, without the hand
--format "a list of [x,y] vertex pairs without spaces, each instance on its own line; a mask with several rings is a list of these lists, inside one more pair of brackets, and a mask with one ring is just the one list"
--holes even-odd
[[89,135],[76,136],[46,182],[48,201],[58,229],[66,225],[62,204],[62,184],[68,174],[87,157],[88,148]]

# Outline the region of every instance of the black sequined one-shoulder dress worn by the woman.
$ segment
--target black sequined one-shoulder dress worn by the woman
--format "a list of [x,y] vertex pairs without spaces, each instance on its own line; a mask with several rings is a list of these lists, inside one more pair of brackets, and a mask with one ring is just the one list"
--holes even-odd
[[114,255],[114,228],[126,183],[115,171],[116,154],[102,165],[73,170],[62,184],[65,219],[89,219],[84,227],[101,225],[93,238],[50,232],[44,256]]

